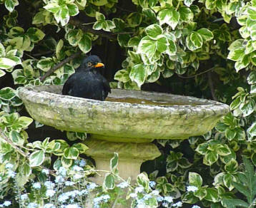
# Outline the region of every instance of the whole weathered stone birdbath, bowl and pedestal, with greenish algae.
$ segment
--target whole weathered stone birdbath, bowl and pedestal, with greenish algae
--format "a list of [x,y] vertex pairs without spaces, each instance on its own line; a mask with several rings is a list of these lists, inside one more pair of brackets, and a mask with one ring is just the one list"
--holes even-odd
[[[136,180],[142,162],[159,157],[155,139],[183,140],[204,135],[229,111],[212,100],[113,89],[105,101],[61,95],[61,85],[19,89],[19,97],[34,120],[59,130],[87,132],[87,155],[99,170],[119,153],[119,175]],[[101,183],[103,177],[96,177]]]

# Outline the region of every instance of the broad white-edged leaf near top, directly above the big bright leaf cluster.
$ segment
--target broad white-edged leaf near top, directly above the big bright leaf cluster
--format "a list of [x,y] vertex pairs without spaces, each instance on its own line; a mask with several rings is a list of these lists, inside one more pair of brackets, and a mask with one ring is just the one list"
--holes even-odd
[[174,30],[179,23],[179,12],[175,9],[162,9],[157,14],[157,19],[159,20],[160,25],[168,24]]

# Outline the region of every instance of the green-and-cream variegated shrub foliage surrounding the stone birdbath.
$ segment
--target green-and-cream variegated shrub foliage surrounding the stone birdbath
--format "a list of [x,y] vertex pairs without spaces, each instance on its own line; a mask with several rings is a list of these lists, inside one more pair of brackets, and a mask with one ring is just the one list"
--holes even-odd
[[[1,199],[26,190],[44,206],[50,197],[39,202],[31,182],[46,180],[44,167],[72,170],[86,152],[86,134],[31,125],[16,90],[61,85],[92,53],[106,64],[112,88],[194,95],[232,110],[206,135],[154,141],[162,156],[142,165],[148,175],[138,177],[144,191],[133,207],[174,206],[145,199],[154,190],[184,207],[255,207],[255,0],[1,0],[0,10]],[[86,178],[95,172],[87,162]],[[107,174],[97,194],[111,199],[101,207],[116,204],[119,189],[116,166]]]

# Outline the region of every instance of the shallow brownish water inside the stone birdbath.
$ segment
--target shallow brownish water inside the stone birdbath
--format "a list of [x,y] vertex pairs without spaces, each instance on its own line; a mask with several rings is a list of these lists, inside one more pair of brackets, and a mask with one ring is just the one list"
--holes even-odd
[[[195,106],[197,103],[182,103],[182,102],[170,102],[166,100],[147,100],[139,98],[112,98],[107,97],[106,101],[117,102],[117,103],[132,103],[132,104],[142,104],[142,105],[159,105],[159,106],[173,106],[173,105],[191,105]],[[200,105],[200,104],[198,104]],[[202,104],[201,104],[202,105]]]

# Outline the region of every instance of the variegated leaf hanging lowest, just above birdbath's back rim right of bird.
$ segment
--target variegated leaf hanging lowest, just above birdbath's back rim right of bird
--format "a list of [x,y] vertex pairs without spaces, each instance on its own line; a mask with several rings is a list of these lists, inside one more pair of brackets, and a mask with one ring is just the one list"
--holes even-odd
[[140,87],[147,78],[147,69],[144,64],[140,63],[133,66],[129,73],[129,78]]

